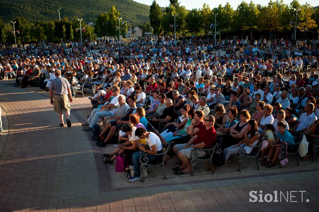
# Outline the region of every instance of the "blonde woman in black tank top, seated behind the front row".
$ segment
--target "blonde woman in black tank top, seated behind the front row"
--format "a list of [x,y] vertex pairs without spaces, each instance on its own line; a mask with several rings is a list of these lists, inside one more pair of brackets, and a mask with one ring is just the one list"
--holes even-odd
[[250,120],[250,114],[247,110],[242,110],[239,116],[240,121],[230,128],[230,133],[221,137],[222,149],[237,144],[245,137],[245,130],[247,128],[247,122]]

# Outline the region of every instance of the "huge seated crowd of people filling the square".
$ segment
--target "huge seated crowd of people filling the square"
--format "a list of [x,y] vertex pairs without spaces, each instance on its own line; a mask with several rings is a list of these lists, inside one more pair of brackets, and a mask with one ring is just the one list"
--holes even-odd
[[[15,77],[15,87],[49,91],[56,77],[52,73],[60,69],[71,90],[94,87],[92,112],[83,130],[93,131],[104,121],[100,134],[92,138],[100,147],[119,143],[114,151],[103,153],[103,160],[113,163],[119,153],[126,154],[135,170],[130,182],[140,180],[141,154],[148,153],[149,161],[161,160],[152,156],[167,147],[160,136],[172,147],[165,163],[175,155],[179,158],[176,175],[191,171],[193,149],[209,149],[217,138],[222,139],[227,161],[242,145],[251,146],[245,147],[249,154],[264,137],[268,146],[259,159],[270,168],[280,145],[293,143],[291,132],[296,131],[310,143],[301,160],[313,157],[313,142],[319,137],[318,40],[297,45],[293,40],[234,38],[214,47],[208,38],[162,37],[79,45],[2,49],[2,77]],[[98,53],[93,48],[99,48]],[[226,53],[213,53],[214,48]],[[285,76],[290,79],[285,81]]]

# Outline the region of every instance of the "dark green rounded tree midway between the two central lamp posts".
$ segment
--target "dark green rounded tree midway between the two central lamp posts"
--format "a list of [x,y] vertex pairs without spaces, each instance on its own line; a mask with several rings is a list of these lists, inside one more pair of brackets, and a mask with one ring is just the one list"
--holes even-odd
[[192,9],[185,18],[186,29],[191,34],[201,34],[203,30],[203,17],[197,9]]

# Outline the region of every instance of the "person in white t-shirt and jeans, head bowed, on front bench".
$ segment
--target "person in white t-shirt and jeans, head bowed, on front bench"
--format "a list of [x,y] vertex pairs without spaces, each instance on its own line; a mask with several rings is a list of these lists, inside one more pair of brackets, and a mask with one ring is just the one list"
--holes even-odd
[[[159,136],[157,136],[155,133],[152,132],[146,132],[144,128],[137,128],[135,130],[135,135],[141,139],[146,139],[147,144],[139,144],[139,149],[141,151],[135,152],[132,156],[132,162],[134,166],[134,176],[132,176],[131,179],[128,181],[130,183],[135,183],[139,180],[141,180],[141,172],[140,172],[140,158],[143,161],[145,161],[145,157],[148,158],[148,161],[161,161],[162,160],[162,155],[156,155],[156,154],[161,154],[163,153],[163,147],[162,143],[159,139]],[[141,154],[147,154],[145,156]],[[154,155],[154,156],[153,156]]]

